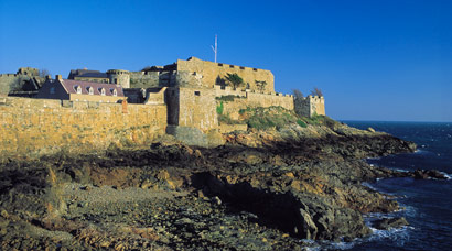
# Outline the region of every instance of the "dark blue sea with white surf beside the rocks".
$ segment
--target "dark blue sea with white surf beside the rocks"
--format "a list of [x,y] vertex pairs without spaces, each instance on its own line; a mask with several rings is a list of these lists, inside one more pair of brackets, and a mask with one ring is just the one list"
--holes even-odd
[[[437,122],[363,122],[343,121],[348,126],[385,131],[418,144],[411,154],[397,154],[368,160],[370,164],[389,168],[415,171],[439,170],[452,177],[452,123]],[[402,216],[408,227],[389,231],[374,230],[351,244],[340,243],[331,249],[346,250],[452,250],[452,179],[419,181],[387,178],[366,184],[397,197],[403,210],[388,215],[366,216],[368,222],[381,217]]]

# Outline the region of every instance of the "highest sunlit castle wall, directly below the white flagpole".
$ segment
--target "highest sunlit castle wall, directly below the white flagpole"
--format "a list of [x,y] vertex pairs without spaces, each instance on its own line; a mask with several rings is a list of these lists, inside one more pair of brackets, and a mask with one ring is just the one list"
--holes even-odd
[[245,85],[249,84],[251,90],[259,90],[255,83],[255,80],[259,80],[267,83],[263,92],[275,91],[275,77],[270,70],[201,61],[196,57],[191,57],[187,61],[177,59],[176,65],[177,74],[181,72],[200,74],[202,85],[207,88],[224,84],[226,74],[237,74],[244,79]]

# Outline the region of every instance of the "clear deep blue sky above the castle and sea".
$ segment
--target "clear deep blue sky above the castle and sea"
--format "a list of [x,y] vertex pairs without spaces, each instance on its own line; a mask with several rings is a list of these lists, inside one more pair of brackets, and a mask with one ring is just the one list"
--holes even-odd
[[334,119],[452,121],[452,1],[0,0],[0,73],[139,70],[196,56],[316,86]]

